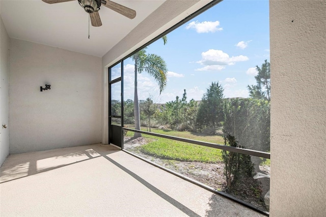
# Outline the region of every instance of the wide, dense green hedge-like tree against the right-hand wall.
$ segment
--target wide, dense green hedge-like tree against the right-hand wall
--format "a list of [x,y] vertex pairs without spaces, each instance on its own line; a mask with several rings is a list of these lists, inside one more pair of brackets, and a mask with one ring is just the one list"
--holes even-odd
[[[232,98],[224,100],[223,132],[238,145],[257,151],[270,150],[270,103],[267,100]],[[259,171],[261,159],[252,157]]]

